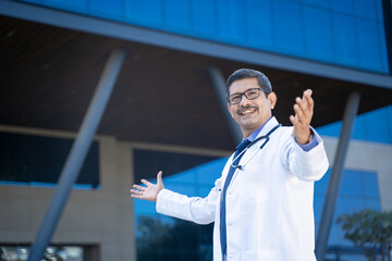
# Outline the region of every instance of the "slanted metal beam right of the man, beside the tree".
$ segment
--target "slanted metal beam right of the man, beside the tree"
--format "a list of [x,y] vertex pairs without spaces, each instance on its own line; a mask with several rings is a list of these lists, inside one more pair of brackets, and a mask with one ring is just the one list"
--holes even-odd
[[358,111],[359,100],[359,92],[352,92],[345,107],[338,151],[333,161],[331,178],[328,185],[328,191],[322,209],[321,221],[316,240],[316,257],[319,261],[322,261],[326,256],[328,238],[331,229],[333,213],[335,210],[340,184],[344,170],[344,161],[353,130],[355,116]]

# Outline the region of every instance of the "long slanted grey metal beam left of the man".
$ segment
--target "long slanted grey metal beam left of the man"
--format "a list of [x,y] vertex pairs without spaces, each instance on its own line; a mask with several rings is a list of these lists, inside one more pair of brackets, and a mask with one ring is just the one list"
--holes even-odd
[[111,53],[108,60],[76,140],[72,145],[71,152],[61,172],[58,188],[38,231],[30,254],[28,256],[28,261],[40,261],[46,247],[50,243],[72,186],[79,174],[82,164],[91,145],[93,137],[102,117],[124,59],[125,52],[117,50]]

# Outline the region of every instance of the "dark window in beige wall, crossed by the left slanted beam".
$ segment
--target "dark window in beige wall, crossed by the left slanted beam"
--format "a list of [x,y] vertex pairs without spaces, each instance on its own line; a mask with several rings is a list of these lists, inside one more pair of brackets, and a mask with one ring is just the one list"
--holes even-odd
[[[73,140],[0,133],[0,182],[38,185],[58,182]],[[94,141],[76,184],[90,188],[99,185],[98,149]]]

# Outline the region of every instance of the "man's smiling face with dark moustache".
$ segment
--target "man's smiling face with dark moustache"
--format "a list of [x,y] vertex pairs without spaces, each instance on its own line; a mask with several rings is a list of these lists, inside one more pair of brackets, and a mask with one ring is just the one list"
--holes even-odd
[[[229,88],[230,94],[244,92],[250,88],[259,88],[256,78],[243,78],[232,83]],[[254,100],[242,97],[237,104],[228,103],[228,110],[234,121],[238,123],[245,138],[247,138],[255,129],[266,123],[272,115],[271,109],[277,103],[277,96],[270,92],[268,97],[261,91],[260,96]]]

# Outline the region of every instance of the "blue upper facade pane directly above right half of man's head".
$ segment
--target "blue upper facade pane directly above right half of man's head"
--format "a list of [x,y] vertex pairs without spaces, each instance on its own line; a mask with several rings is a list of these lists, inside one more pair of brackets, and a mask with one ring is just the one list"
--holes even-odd
[[273,47],[271,1],[246,0],[245,7],[248,44],[271,49]]

